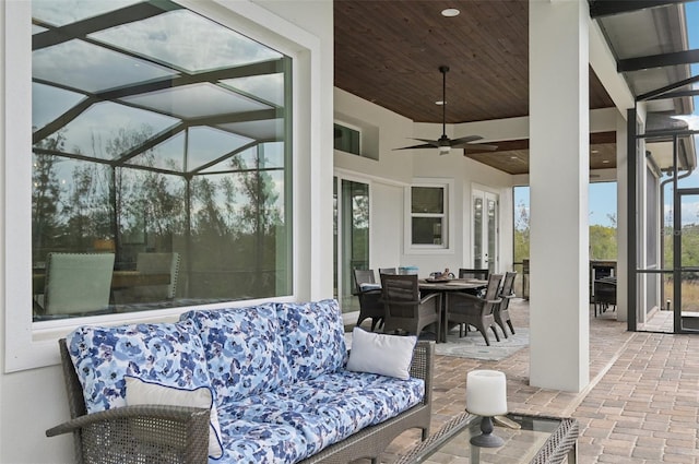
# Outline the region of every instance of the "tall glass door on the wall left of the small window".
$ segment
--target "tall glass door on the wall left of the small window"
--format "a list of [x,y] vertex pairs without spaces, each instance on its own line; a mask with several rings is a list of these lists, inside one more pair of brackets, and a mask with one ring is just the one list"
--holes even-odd
[[353,270],[369,269],[369,185],[339,179],[335,205],[335,298],[343,312],[358,311]]

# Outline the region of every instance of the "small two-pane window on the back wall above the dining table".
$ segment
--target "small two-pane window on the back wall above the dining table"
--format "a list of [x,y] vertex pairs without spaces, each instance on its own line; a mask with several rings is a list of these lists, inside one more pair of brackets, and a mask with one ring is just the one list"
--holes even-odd
[[447,248],[447,186],[411,187],[411,243]]

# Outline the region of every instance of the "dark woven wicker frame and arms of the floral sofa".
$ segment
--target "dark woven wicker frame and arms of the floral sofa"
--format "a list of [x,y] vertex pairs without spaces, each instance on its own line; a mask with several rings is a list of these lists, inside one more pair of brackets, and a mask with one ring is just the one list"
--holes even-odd
[[[126,406],[87,414],[83,390],[66,340],[59,341],[61,366],[71,419],[46,431],[47,437],[73,433],[78,464],[208,463],[209,409],[179,406]],[[423,403],[400,415],[359,430],[301,461],[303,464],[344,464],[366,457],[378,463],[379,455],[395,437],[411,428],[429,436],[434,377],[434,342],[418,342],[411,376],[425,381]]]

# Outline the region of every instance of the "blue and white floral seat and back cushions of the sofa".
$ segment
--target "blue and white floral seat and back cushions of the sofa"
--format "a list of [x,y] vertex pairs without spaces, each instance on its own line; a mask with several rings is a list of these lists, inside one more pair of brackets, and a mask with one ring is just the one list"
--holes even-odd
[[81,328],[68,344],[90,412],[126,404],[125,376],[211,388],[224,450],[212,464],[296,463],[425,397],[422,379],[344,369],[335,300],[191,310],[175,324]]

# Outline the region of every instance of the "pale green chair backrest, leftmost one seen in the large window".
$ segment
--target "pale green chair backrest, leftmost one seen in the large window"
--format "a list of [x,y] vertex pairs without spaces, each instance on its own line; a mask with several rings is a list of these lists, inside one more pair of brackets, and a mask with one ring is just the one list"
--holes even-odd
[[46,313],[70,314],[107,308],[114,258],[114,253],[48,253]]

